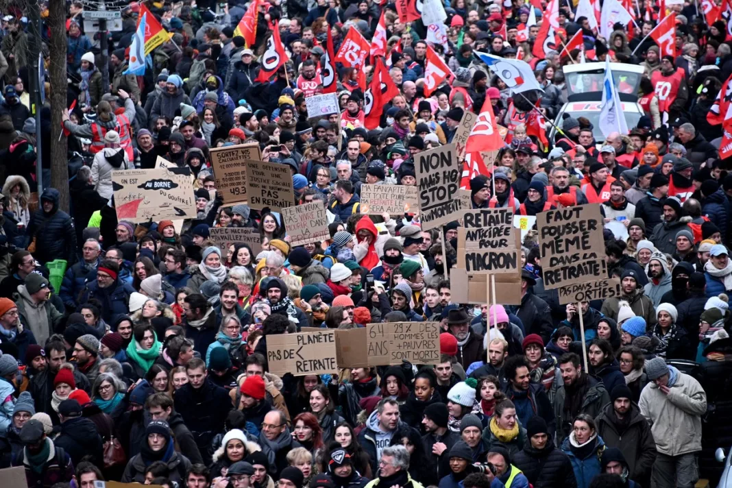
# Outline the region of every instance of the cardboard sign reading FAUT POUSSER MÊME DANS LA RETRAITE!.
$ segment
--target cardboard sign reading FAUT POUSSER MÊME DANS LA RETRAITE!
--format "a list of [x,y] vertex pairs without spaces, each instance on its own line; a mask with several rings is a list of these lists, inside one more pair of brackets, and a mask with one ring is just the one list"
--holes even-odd
[[608,276],[600,205],[541,212],[537,228],[547,290]]

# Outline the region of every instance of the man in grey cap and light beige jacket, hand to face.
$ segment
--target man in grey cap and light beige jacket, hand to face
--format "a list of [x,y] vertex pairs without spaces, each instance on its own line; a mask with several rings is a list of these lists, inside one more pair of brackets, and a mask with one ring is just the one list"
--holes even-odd
[[698,481],[696,455],[701,451],[701,416],[706,393],[695,378],[666,364],[646,361],[651,383],[641,391],[638,407],[651,424],[656,460],[651,486],[691,488]]

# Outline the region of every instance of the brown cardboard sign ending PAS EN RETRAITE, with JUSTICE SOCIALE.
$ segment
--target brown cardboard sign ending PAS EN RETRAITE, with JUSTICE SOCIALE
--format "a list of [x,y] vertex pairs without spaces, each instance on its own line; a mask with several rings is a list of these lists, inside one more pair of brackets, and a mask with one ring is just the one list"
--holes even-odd
[[275,162],[248,162],[247,198],[249,206],[256,210],[282,212],[291,206],[295,203],[295,191],[290,167]]

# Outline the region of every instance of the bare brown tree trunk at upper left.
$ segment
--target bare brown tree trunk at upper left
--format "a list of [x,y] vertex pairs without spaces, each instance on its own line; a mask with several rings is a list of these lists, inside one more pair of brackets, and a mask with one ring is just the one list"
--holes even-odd
[[[59,140],[61,113],[66,107],[66,2],[48,2],[48,26],[51,28],[51,187],[61,193],[59,208],[69,211],[69,158],[67,140]],[[77,222],[79,225],[79,222]]]

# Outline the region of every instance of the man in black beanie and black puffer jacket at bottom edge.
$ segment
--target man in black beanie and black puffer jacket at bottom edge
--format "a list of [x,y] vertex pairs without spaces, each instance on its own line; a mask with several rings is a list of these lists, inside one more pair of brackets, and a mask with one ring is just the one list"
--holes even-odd
[[576,487],[575,470],[567,454],[554,446],[554,439],[541,417],[531,418],[526,424],[529,438],[511,462],[534,488]]

